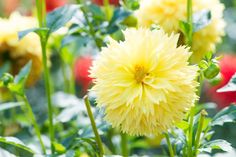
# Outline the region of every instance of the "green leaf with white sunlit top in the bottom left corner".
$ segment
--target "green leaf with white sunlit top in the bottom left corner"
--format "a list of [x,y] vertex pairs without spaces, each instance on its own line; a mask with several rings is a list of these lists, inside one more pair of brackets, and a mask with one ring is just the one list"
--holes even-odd
[[34,156],[34,152],[15,137],[0,137],[0,147],[19,157]]

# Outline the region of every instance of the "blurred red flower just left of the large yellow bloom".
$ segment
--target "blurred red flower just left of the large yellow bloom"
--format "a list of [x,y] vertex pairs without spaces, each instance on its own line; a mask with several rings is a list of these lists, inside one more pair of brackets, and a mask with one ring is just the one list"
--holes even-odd
[[92,78],[89,77],[89,68],[92,65],[91,56],[82,56],[78,58],[74,66],[74,74],[76,82],[82,86],[83,93],[87,91],[92,83]]

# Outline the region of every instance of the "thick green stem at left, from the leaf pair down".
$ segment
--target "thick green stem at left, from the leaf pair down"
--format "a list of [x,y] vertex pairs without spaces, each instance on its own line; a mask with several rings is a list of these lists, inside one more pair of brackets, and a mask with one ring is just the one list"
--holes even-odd
[[51,98],[50,73],[49,73],[49,68],[47,65],[46,45],[47,45],[47,41],[45,41],[41,37],[41,46],[42,46],[42,52],[43,52],[44,81],[45,81],[45,88],[46,88],[47,102],[48,102],[49,133],[50,133],[50,141],[51,141],[51,151],[52,151],[52,154],[54,154],[53,107],[52,107],[52,98]]

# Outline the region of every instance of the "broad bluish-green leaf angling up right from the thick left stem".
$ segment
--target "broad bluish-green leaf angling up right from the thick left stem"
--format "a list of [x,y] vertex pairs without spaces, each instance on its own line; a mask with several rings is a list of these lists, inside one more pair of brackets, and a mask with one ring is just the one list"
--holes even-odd
[[79,5],[65,5],[59,7],[47,15],[47,27],[49,33],[55,32],[68,23],[79,9]]

